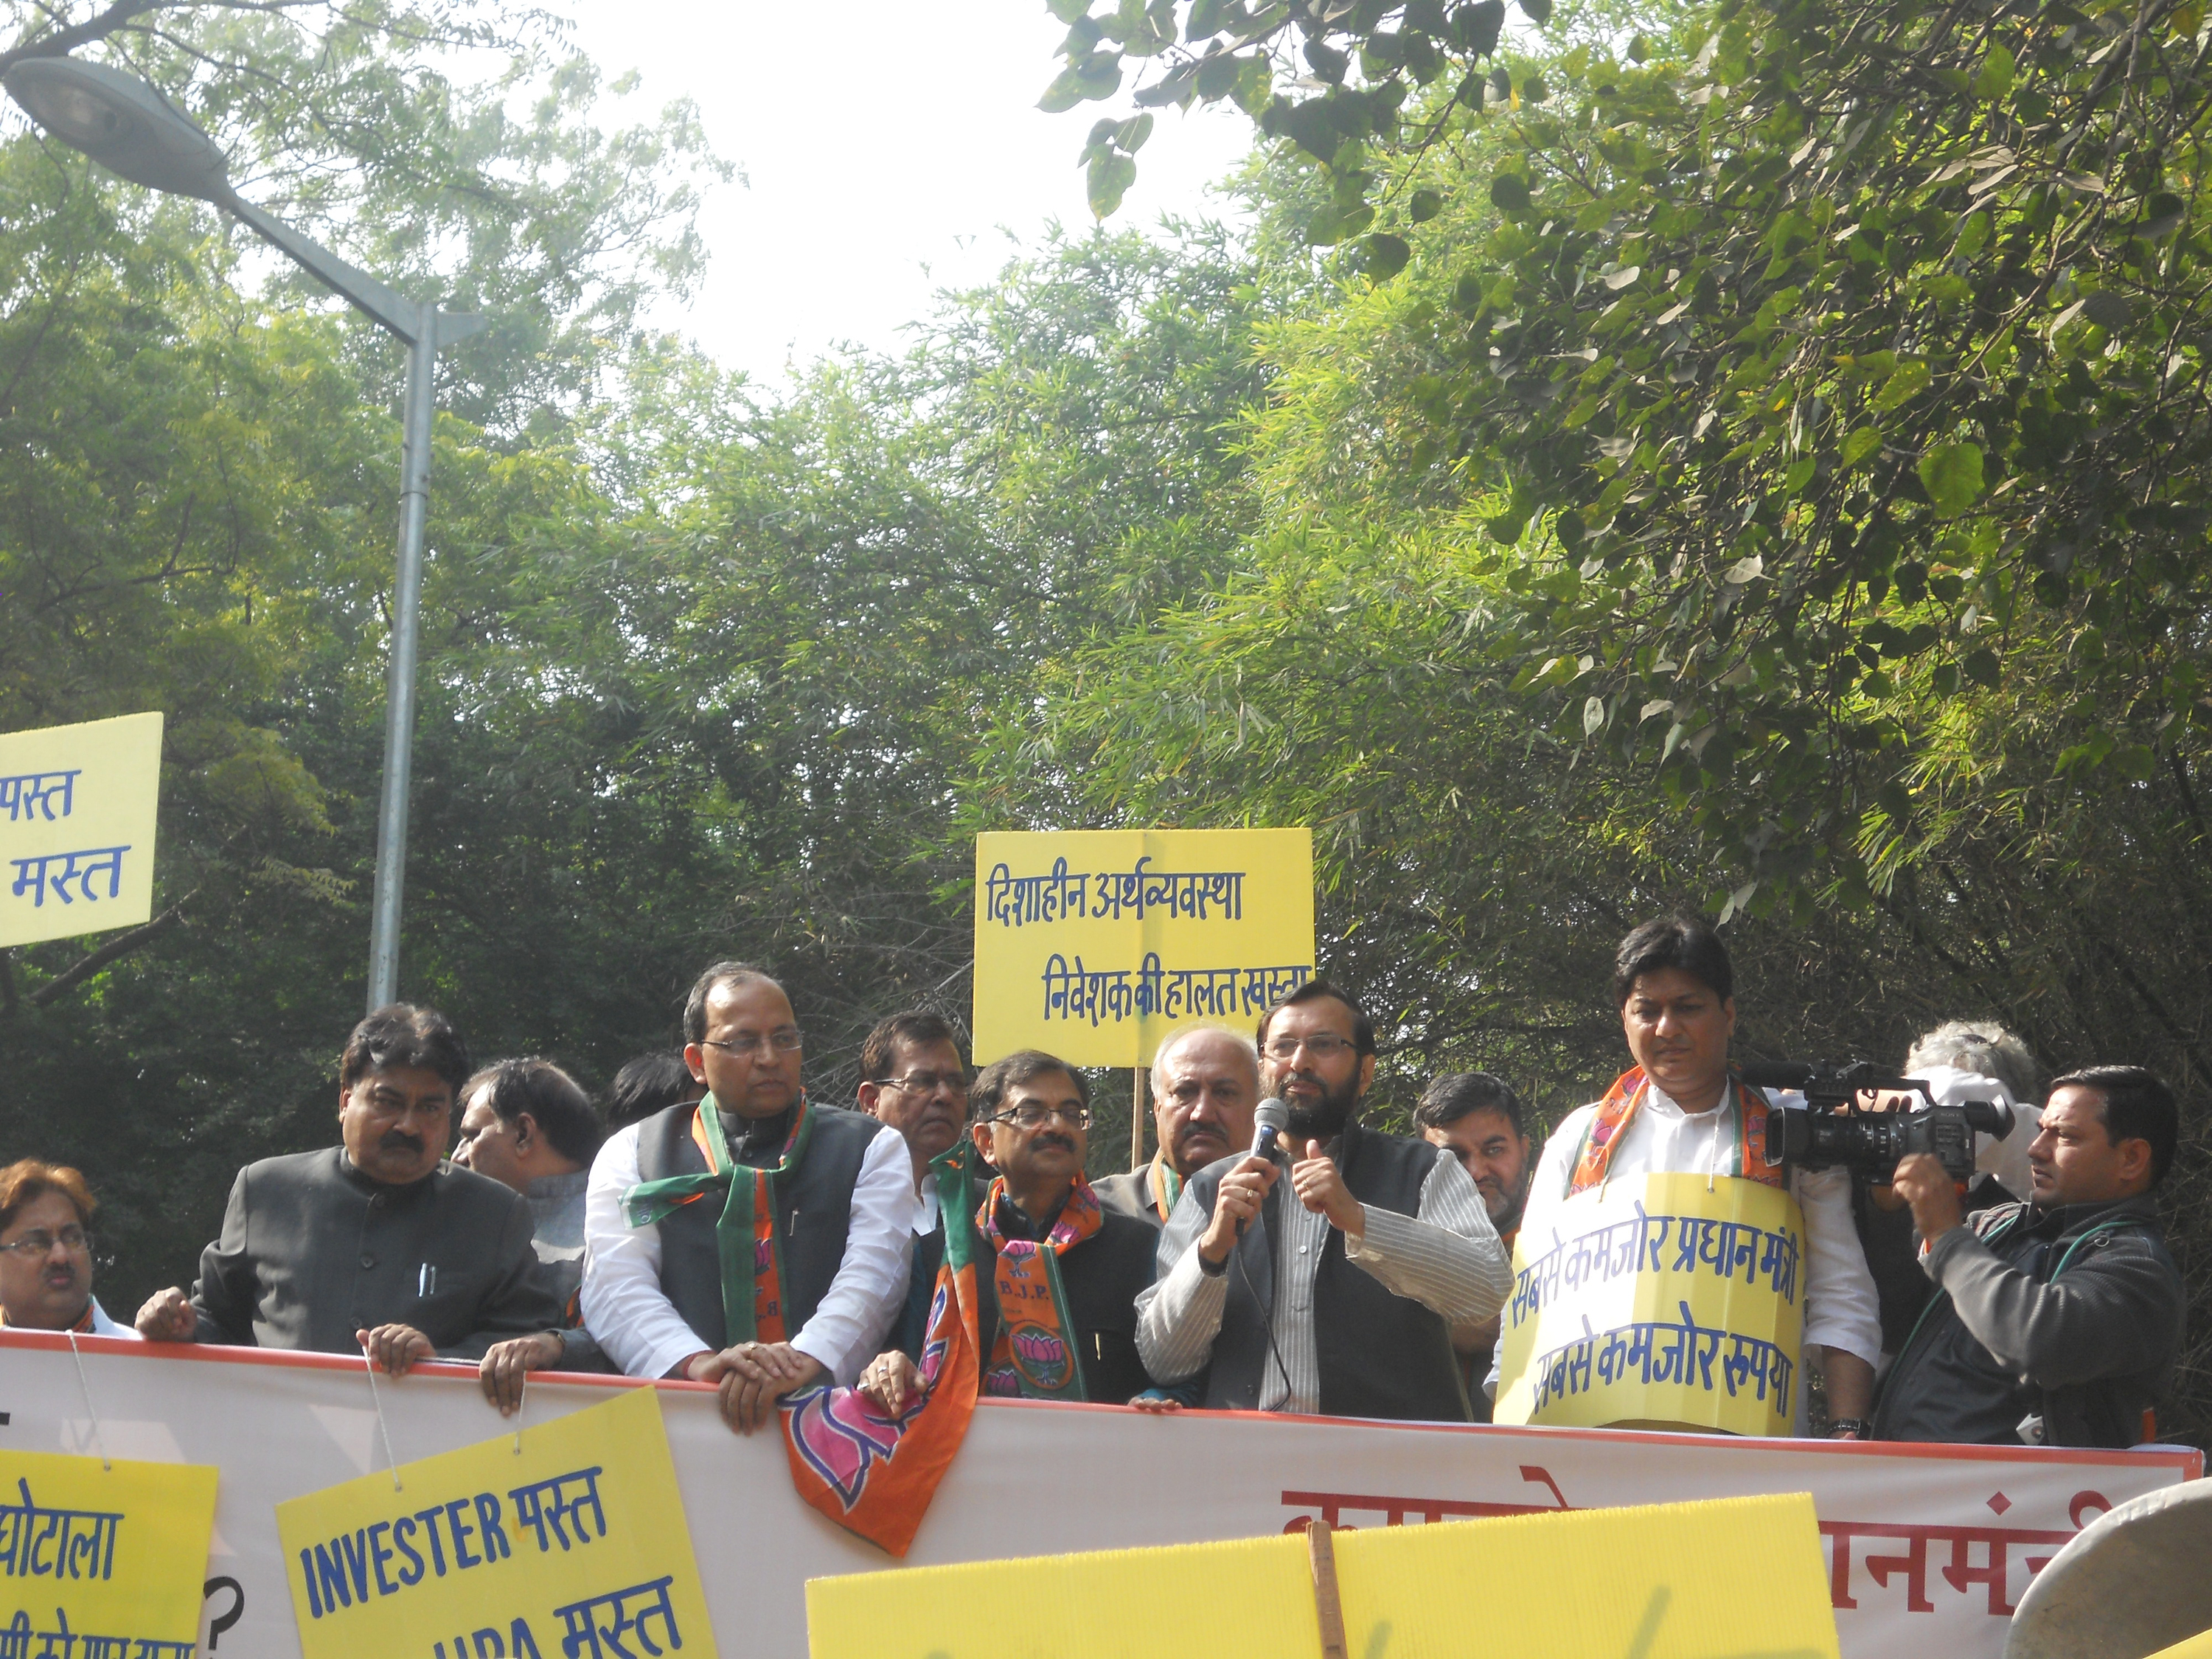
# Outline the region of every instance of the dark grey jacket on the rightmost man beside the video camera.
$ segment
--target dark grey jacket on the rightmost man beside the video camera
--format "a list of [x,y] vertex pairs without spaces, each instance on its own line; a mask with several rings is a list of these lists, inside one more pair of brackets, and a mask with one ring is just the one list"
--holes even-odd
[[2132,1447],[2170,1387],[2185,1296],[2148,1194],[2035,1210],[2006,1203],[1938,1239],[1938,1296],[1898,1354],[1876,1440]]

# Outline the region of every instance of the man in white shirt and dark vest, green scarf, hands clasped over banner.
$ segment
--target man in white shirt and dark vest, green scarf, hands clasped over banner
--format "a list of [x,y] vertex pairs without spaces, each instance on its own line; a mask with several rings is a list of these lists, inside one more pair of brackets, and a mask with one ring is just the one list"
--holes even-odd
[[584,1194],[584,1325],[630,1376],[721,1385],[739,1433],[821,1380],[849,1385],[907,1290],[905,1141],[816,1108],[768,973],[714,962],[684,1004],[708,1086],[599,1148]]

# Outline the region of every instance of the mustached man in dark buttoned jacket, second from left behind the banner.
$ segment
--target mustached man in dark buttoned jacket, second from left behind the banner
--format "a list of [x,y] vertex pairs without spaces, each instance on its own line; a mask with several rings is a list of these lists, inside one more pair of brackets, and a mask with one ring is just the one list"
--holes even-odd
[[190,1298],[161,1290],[139,1336],[321,1354],[367,1349],[400,1376],[416,1360],[480,1360],[507,1336],[562,1323],[538,1272],[531,1206],[442,1168],[469,1055],[431,1009],[378,1009],[338,1062],[341,1146],[239,1170],[221,1237]]

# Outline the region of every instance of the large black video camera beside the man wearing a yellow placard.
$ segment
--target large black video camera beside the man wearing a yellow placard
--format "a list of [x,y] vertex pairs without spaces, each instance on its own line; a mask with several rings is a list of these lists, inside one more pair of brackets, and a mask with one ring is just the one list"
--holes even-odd
[[[1938,1106],[1924,1077],[1889,1077],[1871,1062],[1849,1066],[1807,1066],[1778,1060],[1743,1068],[1752,1088],[1796,1088],[1805,1110],[1767,1110],[1767,1157],[1807,1170],[1832,1170],[1843,1164],[1874,1186],[1887,1186],[1898,1161],[1911,1152],[1933,1152],[1953,1181],[1973,1179],[1973,1135],[2013,1133],[2013,1108],[2004,1102],[1969,1099]],[[1924,1106],[1905,1113],[1869,1113],[1858,1108],[1858,1095],[1920,1095]]]

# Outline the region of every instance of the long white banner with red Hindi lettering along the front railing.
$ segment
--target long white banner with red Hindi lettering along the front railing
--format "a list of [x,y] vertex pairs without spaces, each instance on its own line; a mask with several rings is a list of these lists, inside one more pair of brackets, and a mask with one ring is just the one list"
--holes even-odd
[[[0,1444],[91,1453],[97,1418],[111,1458],[217,1464],[201,1652],[294,1659],[276,1504],[385,1467],[363,1367],[321,1354],[77,1343],[82,1387],[60,1336],[0,1329]],[[526,1420],[577,1411],[608,1387],[626,1385],[533,1383]],[[805,1659],[805,1582],[894,1562],[799,1502],[779,1436],[741,1440],[717,1416],[712,1389],[659,1387],[714,1628],[748,1659]],[[378,1394],[400,1462],[513,1431],[473,1369],[378,1378]],[[907,1559],[1256,1537],[1314,1515],[1398,1526],[1809,1491],[1849,1659],[2000,1659],[2013,1606],[2068,1537],[2112,1504],[2201,1473],[2197,1451],[1851,1447],[1243,1411],[1152,1418],[984,1400]],[[1511,1593],[1453,1590],[1475,1624],[1484,1595]],[[1743,1593],[1756,1599],[1759,1586]]]

